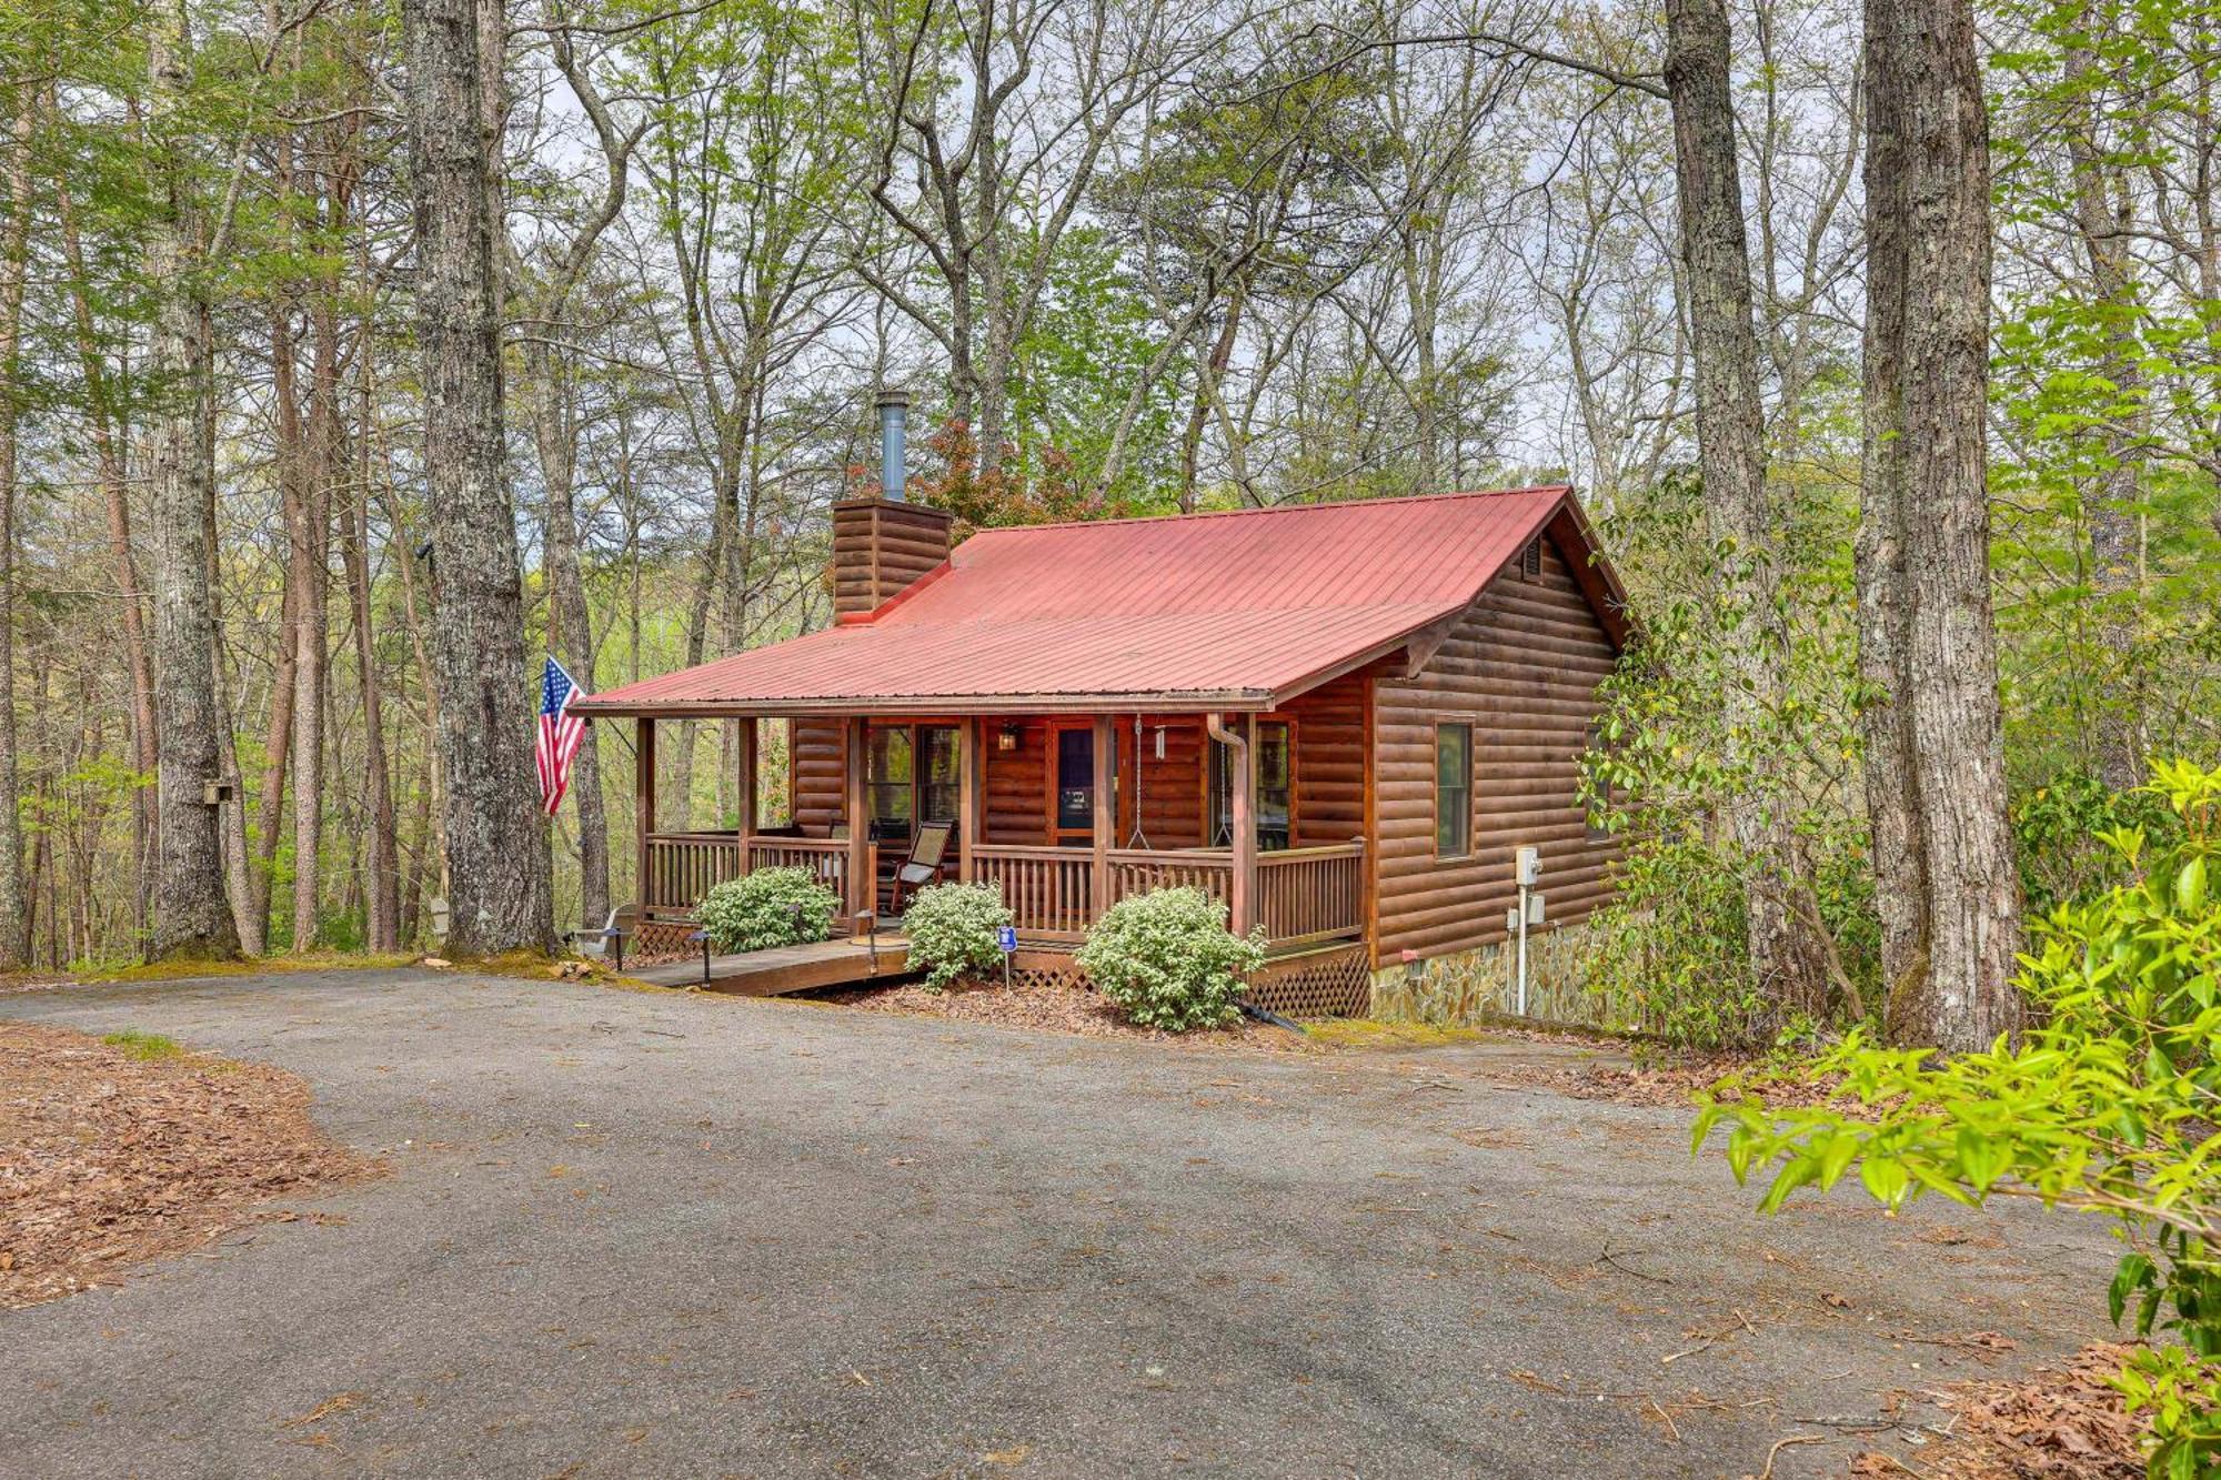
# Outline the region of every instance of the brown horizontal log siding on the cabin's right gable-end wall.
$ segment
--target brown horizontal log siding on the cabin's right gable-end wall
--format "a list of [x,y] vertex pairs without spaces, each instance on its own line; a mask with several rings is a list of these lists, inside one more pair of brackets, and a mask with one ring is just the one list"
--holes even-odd
[[[1579,756],[1612,644],[1557,549],[1539,582],[1499,576],[1415,678],[1379,678],[1375,753],[1375,962],[1504,940],[1513,851],[1541,849],[1550,920],[1610,893],[1615,842],[1590,842]],[[1473,853],[1435,858],[1435,724],[1473,724]]]

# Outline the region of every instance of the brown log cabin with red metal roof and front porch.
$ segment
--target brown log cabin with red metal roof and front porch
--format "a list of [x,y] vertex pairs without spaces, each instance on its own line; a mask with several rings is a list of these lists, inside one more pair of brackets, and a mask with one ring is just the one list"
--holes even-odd
[[[900,469],[900,458],[891,462]],[[637,724],[644,918],[751,869],[882,911],[922,822],[1028,971],[1113,902],[1193,884],[1262,929],[1253,1000],[1361,1016],[1415,958],[1501,942],[1515,851],[1555,924],[1610,891],[1579,756],[1626,598],[1568,487],[982,529],[833,509],[831,627],[577,711]],[[662,831],[657,724],[737,720],[737,827]],[[786,816],[760,733],[786,724]]]

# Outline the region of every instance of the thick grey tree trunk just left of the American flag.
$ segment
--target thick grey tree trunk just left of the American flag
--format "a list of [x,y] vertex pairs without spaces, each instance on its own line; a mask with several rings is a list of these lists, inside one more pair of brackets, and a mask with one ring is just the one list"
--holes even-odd
[[480,122],[480,7],[406,0],[424,467],[438,562],[433,669],[446,776],[449,949],[553,944],[535,804],[515,511],[502,467],[493,140]]

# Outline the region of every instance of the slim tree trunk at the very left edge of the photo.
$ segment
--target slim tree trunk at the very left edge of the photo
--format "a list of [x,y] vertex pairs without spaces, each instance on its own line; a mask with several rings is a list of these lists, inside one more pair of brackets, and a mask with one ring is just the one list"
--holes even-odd
[[22,287],[31,244],[31,109],[16,109],[0,236],[0,971],[27,962],[31,933],[22,893],[22,824],[16,798],[16,396]]

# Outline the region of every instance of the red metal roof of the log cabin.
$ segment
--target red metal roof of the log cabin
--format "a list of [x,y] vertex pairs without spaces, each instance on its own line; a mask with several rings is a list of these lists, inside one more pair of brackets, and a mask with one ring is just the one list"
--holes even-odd
[[1546,487],[984,529],[866,618],[580,707],[1266,709],[1461,611],[1568,504]]

